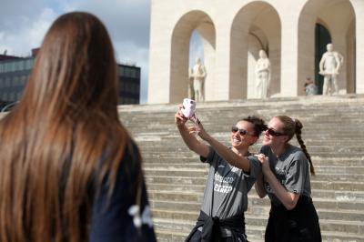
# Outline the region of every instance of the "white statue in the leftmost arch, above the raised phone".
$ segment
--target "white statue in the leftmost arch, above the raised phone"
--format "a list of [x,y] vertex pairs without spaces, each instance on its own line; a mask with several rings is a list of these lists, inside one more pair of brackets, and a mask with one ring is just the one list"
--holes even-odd
[[193,79],[193,95],[197,102],[203,102],[204,97],[204,82],[206,77],[205,66],[201,64],[200,58],[196,58],[196,65],[190,70],[190,77]]

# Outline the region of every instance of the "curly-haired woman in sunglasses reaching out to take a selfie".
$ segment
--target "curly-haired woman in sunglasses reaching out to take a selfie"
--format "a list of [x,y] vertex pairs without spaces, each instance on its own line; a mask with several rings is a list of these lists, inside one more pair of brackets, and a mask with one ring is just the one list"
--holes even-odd
[[[248,208],[248,191],[261,172],[256,156],[248,148],[255,144],[262,130],[263,120],[248,116],[231,128],[231,147],[219,143],[207,134],[202,124],[187,127],[187,117],[181,106],[175,115],[175,123],[189,149],[200,156],[209,168],[207,185],[197,225],[186,241],[247,241],[244,212]],[[197,140],[196,134],[207,142]],[[227,163],[242,164],[242,168]]]

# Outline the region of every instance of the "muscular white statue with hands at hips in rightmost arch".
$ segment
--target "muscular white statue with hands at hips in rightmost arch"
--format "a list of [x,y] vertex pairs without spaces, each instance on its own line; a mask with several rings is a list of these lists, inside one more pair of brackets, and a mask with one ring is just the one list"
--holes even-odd
[[326,45],[326,48],[328,51],[322,55],[319,62],[319,74],[324,76],[322,94],[339,94],[337,76],[339,75],[339,68],[344,62],[344,57],[333,50],[334,46],[332,44]]

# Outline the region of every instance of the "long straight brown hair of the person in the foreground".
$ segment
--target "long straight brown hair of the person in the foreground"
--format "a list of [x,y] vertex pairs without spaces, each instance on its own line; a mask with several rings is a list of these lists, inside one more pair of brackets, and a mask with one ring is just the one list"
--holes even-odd
[[[61,15],[24,96],[0,121],[0,241],[86,241],[94,189],[113,190],[128,140],[116,61],[94,15]],[[102,162],[101,162],[102,161]]]

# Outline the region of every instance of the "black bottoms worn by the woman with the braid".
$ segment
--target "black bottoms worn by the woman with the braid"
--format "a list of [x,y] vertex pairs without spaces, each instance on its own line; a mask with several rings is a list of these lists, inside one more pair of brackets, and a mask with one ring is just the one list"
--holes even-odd
[[299,197],[295,208],[271,205],[266,242],[321,242],[319,217],[311,197]]

